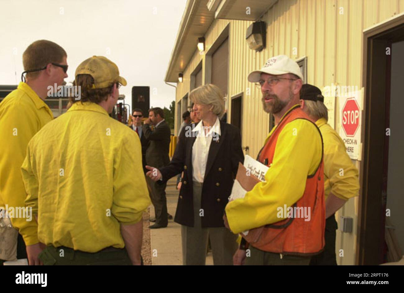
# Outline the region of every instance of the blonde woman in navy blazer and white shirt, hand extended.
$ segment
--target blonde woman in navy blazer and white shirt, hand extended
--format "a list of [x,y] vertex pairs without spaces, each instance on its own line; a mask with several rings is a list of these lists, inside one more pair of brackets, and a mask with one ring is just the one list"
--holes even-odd
[[181,131],[170,164],[158,172],[147,166],[147,175],[163,183],[184,171],[174,219],[181,224],[183,264],[204,265],[210,239],[214,264],[232,265],[237,235],[224,227],[223,213],[244,162],[240,130],[220,121],[224,100],[217,86],[199,86],[189,97],[201,121]]

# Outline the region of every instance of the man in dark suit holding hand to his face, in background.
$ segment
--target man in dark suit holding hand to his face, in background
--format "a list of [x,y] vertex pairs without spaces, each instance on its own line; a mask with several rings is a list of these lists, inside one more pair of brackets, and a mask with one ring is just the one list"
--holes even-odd
[[[150,124],[154,125],[151,130]],[[149,141],[146,150],[147,165],[156,168],[167,166],[170,163],[168,153],[170,151],[170,127],[164,120],[164,112],[161,108],[151,108],[149,110],[149,119],[143,124],[143,133]],[[151,188],[150,198],[154,206],[156,223],[150,226],[150,229],[164,228],[168,225],[166,183],[158,184],[146,177]]]

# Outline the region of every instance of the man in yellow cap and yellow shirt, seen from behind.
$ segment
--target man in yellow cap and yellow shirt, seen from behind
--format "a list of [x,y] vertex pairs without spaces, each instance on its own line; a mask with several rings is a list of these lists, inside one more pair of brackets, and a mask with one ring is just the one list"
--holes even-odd
[[25,203],[47,245],[39,257],[45,265],[141,264],[150,204],[141,144],[108,116],[126,80],[102,56],[83,61],[75,76],[80,99],[29,142],[21,167]]

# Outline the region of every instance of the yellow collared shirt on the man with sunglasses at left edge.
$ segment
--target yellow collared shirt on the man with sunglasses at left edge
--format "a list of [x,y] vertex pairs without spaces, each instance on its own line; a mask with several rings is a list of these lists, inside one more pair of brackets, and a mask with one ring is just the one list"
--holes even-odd
[[[0,103],[0,208],[25,207],[21,164],[29,140],[52,119],[48,105],[24,82]],[[25,244],[33,245],[38,243],[37,224],[27,219],[12,217],[11,223]]]

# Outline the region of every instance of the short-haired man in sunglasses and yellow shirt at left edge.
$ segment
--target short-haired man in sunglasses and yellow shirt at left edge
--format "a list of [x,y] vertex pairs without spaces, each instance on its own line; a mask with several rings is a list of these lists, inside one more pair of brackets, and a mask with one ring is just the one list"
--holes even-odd
[[[67,78],[66,51],[48,40],[38,40],[30,44],[23,53],[23,65],[25,71],[21,75],[22,81],[18,88],[0,103],[0,140],[4,142],[0,144],[0,208],[6,207],[6,204],[8,207],[25,208],[24,200],[27,194],[21,177],[21,165],[27,145],[29,140],[53,119],[52,111],[44,102],[48,87],[55,84],[61,86]],[[11,223],[18,230],[17,258],[28,258],[30,265],[40,264],[38,254],[44,245],[38,240],[38,225],[35,219],[29,221],[12,217]],[[0,264],[4,260],[11,259],[0,259]]]

